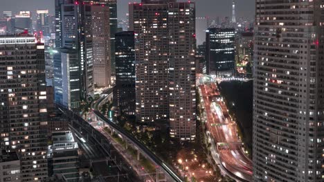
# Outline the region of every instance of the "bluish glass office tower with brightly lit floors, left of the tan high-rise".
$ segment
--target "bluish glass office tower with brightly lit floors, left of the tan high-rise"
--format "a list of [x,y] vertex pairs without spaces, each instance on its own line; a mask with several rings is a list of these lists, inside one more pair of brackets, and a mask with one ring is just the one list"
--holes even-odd
[[[91,4],[56,0],[56,45],[54,56],[55,101],[66,108],[78,108],[93,97],[93,44]],[[58,20],[60,19],[60,20]]]

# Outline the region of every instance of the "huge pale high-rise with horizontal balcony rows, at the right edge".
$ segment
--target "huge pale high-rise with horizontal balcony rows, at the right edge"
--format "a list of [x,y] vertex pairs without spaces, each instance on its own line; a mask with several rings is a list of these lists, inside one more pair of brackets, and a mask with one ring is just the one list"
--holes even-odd
[[322,9],[299,3],[256,1],[253,181],[323,181]]

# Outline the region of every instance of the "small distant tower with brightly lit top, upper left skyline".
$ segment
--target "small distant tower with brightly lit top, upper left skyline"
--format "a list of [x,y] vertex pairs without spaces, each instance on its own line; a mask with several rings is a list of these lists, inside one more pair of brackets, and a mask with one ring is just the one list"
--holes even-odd
[[48,10],[37,10],[37,33],[49,37],[50,34],[50,22]]

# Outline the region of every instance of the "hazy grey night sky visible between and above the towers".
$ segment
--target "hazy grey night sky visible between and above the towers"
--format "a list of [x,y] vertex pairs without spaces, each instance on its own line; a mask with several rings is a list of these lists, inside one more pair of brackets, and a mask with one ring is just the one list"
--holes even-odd
[[[54,14],[55,0],[0,0],[0,12],[9,10],[17,12],[19,10],[50,10]],[[126,17],[129,2],[139,2],[140,0],[117,0],[118,1],[118,18]],[[180,0],[179,0],[180,1]],[[181,0],[183,1],[183,0]],[[194,0],[192,0],[194,1]],[[197,17],[231,17],[231,0],[195,0],[197,6]],[[252,19],[255,12],[255,0],[236,0],[236,12],[238,17],[246,17]],[[197,21],[197,43],[201,43],[204,39],[204,27],[206,21]]]

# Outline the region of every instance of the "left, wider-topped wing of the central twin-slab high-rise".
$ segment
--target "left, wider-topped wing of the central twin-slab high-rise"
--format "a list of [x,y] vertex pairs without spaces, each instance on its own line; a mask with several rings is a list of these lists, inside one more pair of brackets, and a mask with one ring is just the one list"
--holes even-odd
[[129,25],[136,39],[136,119],[168,121],[168,1],[130,4]]

